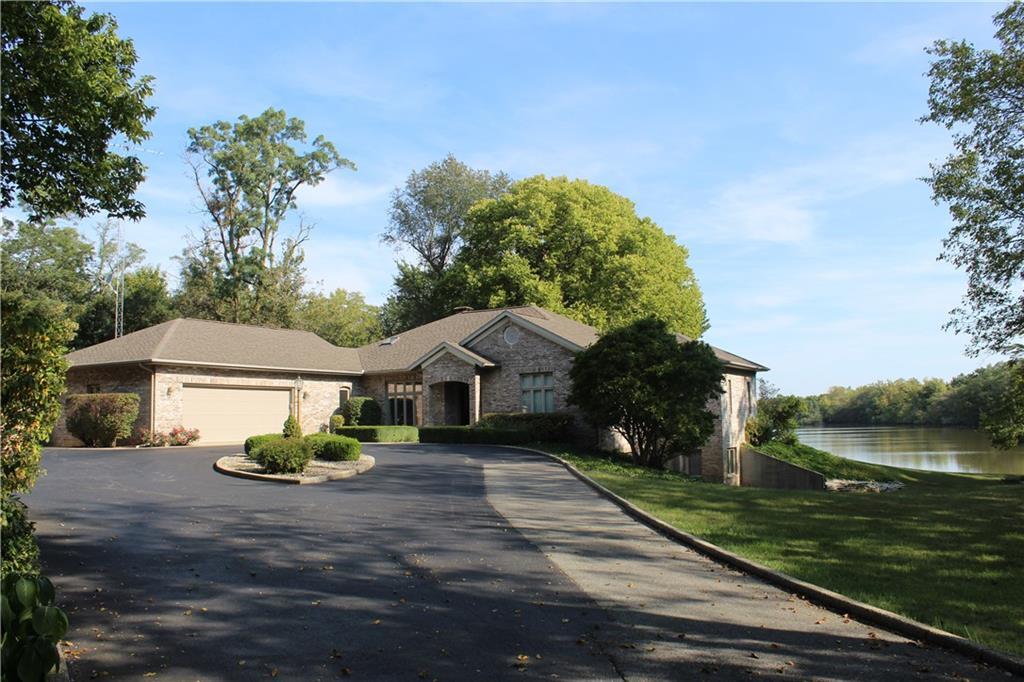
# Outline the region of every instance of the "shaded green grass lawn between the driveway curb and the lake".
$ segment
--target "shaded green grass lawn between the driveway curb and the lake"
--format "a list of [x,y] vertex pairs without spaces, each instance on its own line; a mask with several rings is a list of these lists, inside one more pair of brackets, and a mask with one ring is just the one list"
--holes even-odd
[[854,599],[1024,654],[1022,484],[835,458],[852,467],[838,470],[849,477],[906,486],[881,495],[770,491],[699,482],[564,446],[544,449],[681,530]]

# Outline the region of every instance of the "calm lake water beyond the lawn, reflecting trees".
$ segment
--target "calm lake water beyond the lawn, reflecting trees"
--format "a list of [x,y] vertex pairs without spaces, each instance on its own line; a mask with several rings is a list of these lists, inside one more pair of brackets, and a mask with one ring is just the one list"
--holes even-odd
[[1024,474],[1024,447],[995,450],[980,431],[935,426],[807,426],[800,441],[841,457],[929,471]]

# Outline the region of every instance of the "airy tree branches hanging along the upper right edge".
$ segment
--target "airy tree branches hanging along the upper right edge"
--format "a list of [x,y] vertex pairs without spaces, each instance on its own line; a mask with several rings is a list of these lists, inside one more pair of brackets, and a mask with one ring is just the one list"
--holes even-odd
[[927,178],[953,227],[941,259],[968,273],[947,329],[968,351],[1021,352],[1024,335],[1024,3],[995,15],[998,50],[937,41],[922,121],[952,132],[955,153]]

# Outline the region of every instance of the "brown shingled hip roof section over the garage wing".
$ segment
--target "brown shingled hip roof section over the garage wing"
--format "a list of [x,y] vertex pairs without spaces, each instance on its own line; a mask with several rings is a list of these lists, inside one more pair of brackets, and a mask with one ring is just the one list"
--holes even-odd
[[179,317],[68,354],[73,367],[162,363],[361,374],[354,348],[312,332]]

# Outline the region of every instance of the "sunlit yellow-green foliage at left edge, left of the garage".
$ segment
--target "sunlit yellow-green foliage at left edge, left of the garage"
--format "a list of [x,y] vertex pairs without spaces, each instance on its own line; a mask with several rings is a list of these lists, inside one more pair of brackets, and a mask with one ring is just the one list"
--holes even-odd
[[3,492],[27,493],[39,475],[42,443],[60,415],[68,369],[63,354],[75,324],[56,301],[4,289],[0,333]]

